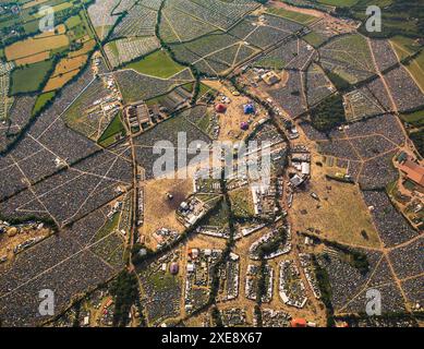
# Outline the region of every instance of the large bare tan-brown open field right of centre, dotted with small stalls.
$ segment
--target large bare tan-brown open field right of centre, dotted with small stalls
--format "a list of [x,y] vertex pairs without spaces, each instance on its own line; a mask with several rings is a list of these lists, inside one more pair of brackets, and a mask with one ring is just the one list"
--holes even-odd
[[[340,243],[378,248],[380,241],[358,185],[325,178],[326,167],[312,164],[312,181],[307,191],[294,194],[291,215],[293,231],[319,229],[320,234]],[[328,189],[327,189],[328,188]],[[311,196],[315,192],[319,202]],[[302,214],[306,210],[306,214]],[[368,238],[362,237],[365,230]]]

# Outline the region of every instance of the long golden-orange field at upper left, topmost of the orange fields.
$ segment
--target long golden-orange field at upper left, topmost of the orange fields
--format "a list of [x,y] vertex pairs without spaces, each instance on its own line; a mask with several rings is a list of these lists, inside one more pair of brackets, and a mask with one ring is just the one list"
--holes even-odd
[[46,50],[53,50],[69,45],[66,35],[54,35],[49,37],[27,38],[25,40],[14,43],[4,49],[4,55],[8,61],[13,61],[20,58],[37,55]]

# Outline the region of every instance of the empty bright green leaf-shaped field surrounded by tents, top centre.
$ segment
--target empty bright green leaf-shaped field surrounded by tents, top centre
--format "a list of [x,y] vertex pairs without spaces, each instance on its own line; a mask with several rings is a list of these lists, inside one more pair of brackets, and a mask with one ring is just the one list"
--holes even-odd
[[184,67],[175,63],[165,51],[156,51],[124,68],[134,69],[138,73],[161,79],[169,79],[184,69]]

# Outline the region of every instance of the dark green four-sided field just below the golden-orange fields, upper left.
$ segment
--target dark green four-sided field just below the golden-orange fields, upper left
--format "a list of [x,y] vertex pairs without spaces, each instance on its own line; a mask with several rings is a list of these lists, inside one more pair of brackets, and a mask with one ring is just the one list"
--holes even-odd
[[[22,69],[15,69],[11,74],[10,94],[36,92],[43,88],[47,75],[53,69],[53,61],[43,61]],[[28,79],[31,77],[31,79]]]

